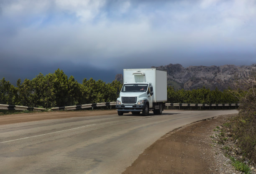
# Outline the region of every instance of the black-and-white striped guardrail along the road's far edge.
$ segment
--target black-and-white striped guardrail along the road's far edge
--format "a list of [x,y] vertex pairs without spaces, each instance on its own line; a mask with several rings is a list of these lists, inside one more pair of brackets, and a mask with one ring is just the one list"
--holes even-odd
[[[104,103],[93,103],[93,104],[85,104],[85,105],[75,105],[75,106],[64,106],[64,107],[52,107],[50,110],[79,110],[85,108],[94,108],[101,106],[115,106],[116,102],[104,102]],[[211,106],[240,106],[240,104],[186,104],[186,103],[165,103],[167,107],[169,106],[187,106],[187,107],[211,107]],[[45,108],[38,107],[26,107],[26,106],[16,106],[16,105],[1,105],[0,110],[34,110],[34,111],[42,111],[46,110]]]

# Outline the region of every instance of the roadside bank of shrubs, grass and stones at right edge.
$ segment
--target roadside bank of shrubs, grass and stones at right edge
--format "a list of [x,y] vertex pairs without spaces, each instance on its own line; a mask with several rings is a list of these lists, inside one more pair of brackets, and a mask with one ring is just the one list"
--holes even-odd
[[240,101],[239,113],[214,129],[213,143],[218,143],[231,164],[250,174],[256,162],[256,74],[250,79],[238,80],[233,95]]

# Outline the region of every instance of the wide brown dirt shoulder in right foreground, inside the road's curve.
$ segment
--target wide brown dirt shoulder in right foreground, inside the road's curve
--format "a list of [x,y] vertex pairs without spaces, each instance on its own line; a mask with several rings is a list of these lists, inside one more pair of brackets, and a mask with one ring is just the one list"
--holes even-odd
[[[149,146],[122,174],[236,174],[224,170],[210,136],[228,115],[186,125]],[[217,151],[217,152],[216,152]],[[232,166],[231,166],[232,167]]]

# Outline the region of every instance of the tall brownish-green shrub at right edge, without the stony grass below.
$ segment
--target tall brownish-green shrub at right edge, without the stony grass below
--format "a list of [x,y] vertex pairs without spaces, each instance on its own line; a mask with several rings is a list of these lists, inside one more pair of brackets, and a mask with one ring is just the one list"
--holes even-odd
[[233,91],[240,100],[239,113],[230,121],[233,138],[237,140],[242,154],[256,161],[256,72],[246,80],[236,82]]

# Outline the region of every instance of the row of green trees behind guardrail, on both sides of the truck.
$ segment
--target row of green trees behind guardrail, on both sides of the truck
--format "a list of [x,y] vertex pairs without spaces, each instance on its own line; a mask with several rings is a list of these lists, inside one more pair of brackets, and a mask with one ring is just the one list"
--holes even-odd
[[[118,81],[105,83],[90,78],[78,83],[73,76],[67,77],[60,69],[53,74],[45,76],[38,74],[34,79],[17,80],[16,87],[6,81],[0,80],[0,104],[21,105],[28,107],[62,107],[83,105],[97,102],[116,101],[117,88],[122,84]],[[197,90],[174,90],[167,87],[167,102],[170,103],[238,103],[238,99],[230,90],[220,91],[217,88],[210,90],[205,87]]]

